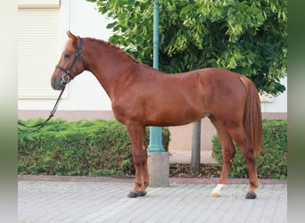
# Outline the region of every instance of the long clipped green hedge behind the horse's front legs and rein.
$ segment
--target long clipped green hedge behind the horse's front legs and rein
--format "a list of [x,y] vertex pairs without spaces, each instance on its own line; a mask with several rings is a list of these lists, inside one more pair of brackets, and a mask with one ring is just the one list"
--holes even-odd
[[[21,122],[33,125],[42,120]],[[127,129],[115,120],[50,120],[37,132],[18,133],[18,173],[67,176],[130,176],[135,169]],[[147,141],[149,128],[147,128]],[[169,129],[163,128],[169,147]]]

